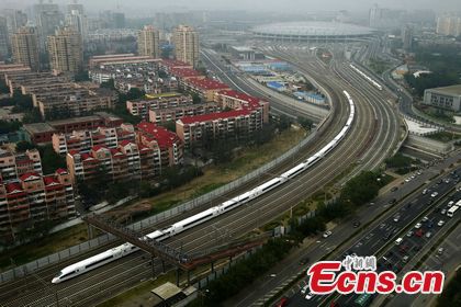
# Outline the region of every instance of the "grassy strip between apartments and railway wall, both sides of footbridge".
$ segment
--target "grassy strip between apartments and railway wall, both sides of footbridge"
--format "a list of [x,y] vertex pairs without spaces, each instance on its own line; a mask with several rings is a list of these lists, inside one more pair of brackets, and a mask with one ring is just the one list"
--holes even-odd
[[[305,137],[304,129],[288,129],[276,136],[270,143],[260,147],[249,148],[239,152],[233,161],[223,166],[211,166],[204,170],[204,175],[192,180],[178,189],[165,192],[148,200],[131,202],[125,208],[149,204],[150,211],[133,215],[134,219],[157,214],[188,200],[206,194],[251,170],[273,160],[297,145]],[[263,154],[261,154],[263,152]],[[120,208],[117,208],[119,211]],[[11,266],[11,258],[16,265],[24,264],[50,253],[64,250],[88,240],[87,227],[81,224],[46,238],[4,251],[0,255],[0,268]]]

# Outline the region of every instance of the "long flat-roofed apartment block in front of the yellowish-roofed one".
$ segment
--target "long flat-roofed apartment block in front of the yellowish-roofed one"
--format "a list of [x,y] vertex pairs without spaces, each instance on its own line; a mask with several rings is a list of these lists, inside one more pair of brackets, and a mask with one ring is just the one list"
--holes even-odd
[[155,124],[162,124],[171,121],[177,121],[184,116],[194,116],[218,112],[221,109],[217,103],[200,103],[191,105],[182,105],[169,109],[150,109],[149,122]]

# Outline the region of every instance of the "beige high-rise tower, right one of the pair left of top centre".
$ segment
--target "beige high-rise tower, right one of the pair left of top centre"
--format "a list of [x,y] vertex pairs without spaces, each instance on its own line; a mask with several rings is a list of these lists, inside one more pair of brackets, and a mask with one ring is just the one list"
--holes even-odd
[[199,33],[191,26],[180,25],[173,32],[176,59],[196,67],[199,62]]

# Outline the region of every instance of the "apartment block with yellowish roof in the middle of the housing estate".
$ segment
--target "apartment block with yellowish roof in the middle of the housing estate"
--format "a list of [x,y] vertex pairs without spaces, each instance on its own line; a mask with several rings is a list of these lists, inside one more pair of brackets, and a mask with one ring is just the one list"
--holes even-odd
[[132,115],[149,120],[149,110],[172,109],[192,104],[192,96],[180,93],[149,94],[143,100],[126,102],[126,109]]

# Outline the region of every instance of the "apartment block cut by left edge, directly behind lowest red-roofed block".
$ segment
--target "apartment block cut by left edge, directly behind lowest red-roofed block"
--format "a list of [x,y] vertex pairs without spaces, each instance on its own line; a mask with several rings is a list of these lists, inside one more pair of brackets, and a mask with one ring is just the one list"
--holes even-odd
[[16,180],[29,172],[43,174],[38,150],[30,149],[25,152],[14,152],[7,147],[0,148],[1,181]]

